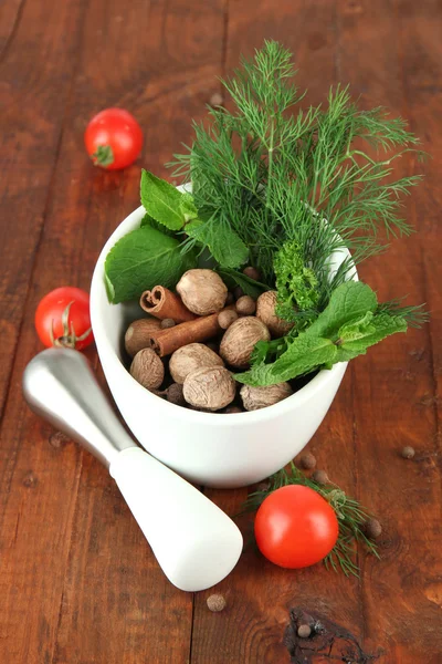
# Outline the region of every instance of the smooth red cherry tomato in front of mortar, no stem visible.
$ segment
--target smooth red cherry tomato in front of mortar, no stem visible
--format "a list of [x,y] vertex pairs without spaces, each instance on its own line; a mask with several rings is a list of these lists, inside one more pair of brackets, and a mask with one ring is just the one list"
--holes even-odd
[[256,512],[260,551],[283,568],[298,569],[323,560],[338,538],[335,510],[308,487],[290,485],[265,498]]

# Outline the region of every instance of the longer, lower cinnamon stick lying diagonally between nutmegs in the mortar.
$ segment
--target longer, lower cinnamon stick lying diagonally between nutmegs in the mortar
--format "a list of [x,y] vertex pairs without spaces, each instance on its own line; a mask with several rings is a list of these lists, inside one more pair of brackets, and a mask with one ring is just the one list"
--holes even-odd
[[[227,307],[227,309],[233,309],[233,305]],[[175,328],[159,330],[158,332],[154,331],[150,334],[149,347],[154,349],[160,357],[164,357],[165,355],[171,355],[171,353],[189,343],[207,341],[221,332],[218,317],[219,313],[201,315],[193,321],[175,325]]]

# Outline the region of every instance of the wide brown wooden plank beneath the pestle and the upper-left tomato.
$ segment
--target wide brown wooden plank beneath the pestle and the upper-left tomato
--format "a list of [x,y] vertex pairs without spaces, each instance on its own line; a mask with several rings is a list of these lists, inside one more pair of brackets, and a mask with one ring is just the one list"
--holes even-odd
[[[189,118],[218,90],[222,23],[221,2],[87,6],[1,432],[0,661],[8,664],[188,661],[192,595],[165,580],[105,469],[29,413],[20,378],[40,350],[39,299],[61,282],[88,288],[105,239],[139,205],[140,165],[164,174],[160,165],[189,138]],[[54,30],[51,39],[61,39]],[[110,104],[133,111],[146,133],[143,157],[122,173],[94,169],[83,147],[87,120]]]

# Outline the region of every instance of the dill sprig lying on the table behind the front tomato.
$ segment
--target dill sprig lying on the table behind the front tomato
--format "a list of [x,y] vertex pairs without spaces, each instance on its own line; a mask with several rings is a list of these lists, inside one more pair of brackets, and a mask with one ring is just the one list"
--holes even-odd
[[348,497],[339,487],[334,484],[326,486],[319,485],[312,478],[306,477],[292,461],[290,471],[283,468],[270,478],[270,485],[265,489],[261,489],[250,494],[243,505],[243,512],[255,511],[264,499],[281,487],[287,485],[302,485],[317,491],[323,498],[334,508],[338,523],[339,536],[338,540],[324,559],[326,568],[332,568],[335,571],[340,569],[346,575],[359,575],[359,567],[356,561],[356,542],[361,542],[367,550],[379,558],[377,544],[367,538],[364,532],[364,525],[371,518],[371,513],[360,504]]

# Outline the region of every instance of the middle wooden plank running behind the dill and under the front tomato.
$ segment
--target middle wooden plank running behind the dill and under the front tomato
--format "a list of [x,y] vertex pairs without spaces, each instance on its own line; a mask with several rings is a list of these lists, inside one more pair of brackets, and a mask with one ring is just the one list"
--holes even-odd
[[[264,39],[277,39],[294,52],[299,86],[307,87],[306,104],[325,100],[329,85],[339,80],[339,46],[333,3],[273,2],[232,3],[229,12],[228,72],[240,53],[253,53]],[[352,444],[352,370],[347,372],[336,402],[308,446],[318,464],[345,490],[355,491]],[[271,444],[271,442],[269,443]],[[208,495],[228,513],[239,511],[248,494],[210,490]],[[244,526],[252,535],[252,520]],[[207,598],[221,592],[228,608],[212,614]],[[302,605],[327,614],[357,637],[362,633],[360,588],[356,579],[327,572],[323,566],[287,571],[265,561],[254,546],[246,547],[233,573],[214,590],[196,595],[192,664],[255,664],[288,662],[283,644],[288,611]]]

